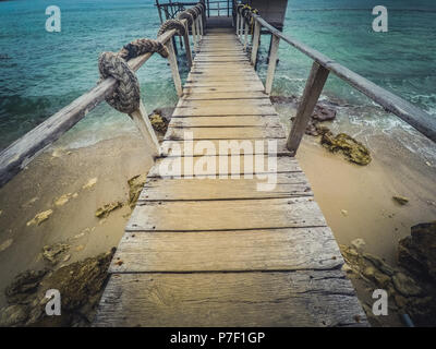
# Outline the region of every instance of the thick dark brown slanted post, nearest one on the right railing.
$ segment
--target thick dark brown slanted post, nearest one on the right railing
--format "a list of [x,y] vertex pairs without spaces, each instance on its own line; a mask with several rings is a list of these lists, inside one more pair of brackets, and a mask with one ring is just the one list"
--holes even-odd
[[328,73],[329,71],[323,65],[319,65],[317,62],[313,63],[311,74],[308,75],[306,86],[304,88],[303,98],[300,103],[296,117],[287,141],[287,147],[291,152],[292,156],[295,156],[296,154],[296,149],[299,148],[300,142],[303,139],[307,123],[314,111],[316,103],[318,101],[324,84],[327,81]]

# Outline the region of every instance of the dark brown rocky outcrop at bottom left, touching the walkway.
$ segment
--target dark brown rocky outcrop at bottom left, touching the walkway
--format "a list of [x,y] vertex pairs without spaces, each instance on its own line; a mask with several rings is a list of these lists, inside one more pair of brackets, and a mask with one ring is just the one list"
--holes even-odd
[[[0,310],[0,326],[88,326],[96,312],[114,249],[55,272],[27,270],[5,289],[9,305]],[[46,291],[61,294],[61,315],[48,316]]]

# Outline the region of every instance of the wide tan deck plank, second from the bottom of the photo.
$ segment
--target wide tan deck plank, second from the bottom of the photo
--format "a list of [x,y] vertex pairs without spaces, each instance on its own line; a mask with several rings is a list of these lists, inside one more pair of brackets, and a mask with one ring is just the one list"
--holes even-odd
[[[122,261],[120,264],[118,261]],[[326,270],[343,260],[330,228],[126,232],[109,273]]]

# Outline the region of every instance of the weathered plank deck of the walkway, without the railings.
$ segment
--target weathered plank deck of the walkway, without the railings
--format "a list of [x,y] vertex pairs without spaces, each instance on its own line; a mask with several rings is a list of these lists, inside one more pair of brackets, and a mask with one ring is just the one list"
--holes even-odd
[[[209,29],[162,144],[167,158],[150,170],[110,266],[95,326],[367,325],[263,91],[235,35]],[[256,176],[160,177],[159,165],[177,159],[186,131],[194,141],[179,158],[183,165],[203,155],[195,149],[201,140],[276,140],[276,189],[257,191],[265,179]],[[218,164],[228,156],[211,157]],[[217,171],[218,165],[204,174]]]

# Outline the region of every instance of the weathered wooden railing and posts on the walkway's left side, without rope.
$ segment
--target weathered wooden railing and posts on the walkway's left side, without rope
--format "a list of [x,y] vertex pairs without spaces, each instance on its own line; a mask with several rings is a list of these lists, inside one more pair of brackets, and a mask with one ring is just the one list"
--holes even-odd
[[[203,36],[203,15],[198,15],[191,27],[194,49],[199,45]],[[192,52],[187,31],[187,21],[181,21],[186,27],[183,37],[186,51],[187,65],[192,67]],[[179,74],[177,57],[171,38],[175,35],[175,29],[171,29],[157,38],[167,47],[169,52],[168,61],[171,68],[171,74],[174,82],[178,96],[182,96],[182,83]],[[128,64],[133,71],[137,71],[153,53],[145,53],[129,60]],[[46,147],[56,142],[62,134],[81,121],[89,111],[105,100],[105,96],[113,93],[117,87],[117,81],[108,77],[101,81],[97,86],[86,94],[73,100],[70,105],[59,110],[57,113],[41,122],[35,129],[27,132],[21,139],[12,143],[0,153],[0,188],[10,181],[25,166],[28,165]],[[159,155],[159,145],[155,132],[149,123],[147,112],[143,103],[140,103],[138,110],[130,115],[140,132],[145,137],[147,145],[150,146],[153,155]]]

